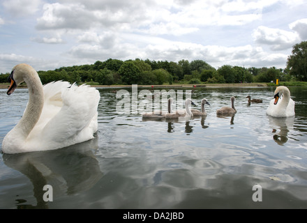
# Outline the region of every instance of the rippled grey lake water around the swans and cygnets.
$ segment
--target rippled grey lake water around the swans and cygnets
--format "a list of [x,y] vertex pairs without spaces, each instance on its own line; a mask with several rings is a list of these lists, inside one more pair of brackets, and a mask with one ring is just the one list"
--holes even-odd
[[[307,88],[290,88],[292,118],[265,114],[274,89],[197,87],[193,108],[207,98],[208,115],[188,121],[119,114],[120,89],[98,89],[95,139],[1,153],[0,208],[307,208]],[[217,117],[232,95],[237,114]],[[263,102],[248,105],[247,95]],[[27,100],[27,89],[0,90],[0,147]],[[44,185],[53,201],[44,201]]]

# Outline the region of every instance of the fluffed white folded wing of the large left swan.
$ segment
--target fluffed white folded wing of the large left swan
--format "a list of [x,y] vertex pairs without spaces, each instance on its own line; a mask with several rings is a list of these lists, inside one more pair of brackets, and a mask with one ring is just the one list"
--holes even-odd
[[73,84],[62,91],[61,98],[63,106],[45,125],[42,136],[57,148],[92,139],[97,131],[99,92],[87,85]]

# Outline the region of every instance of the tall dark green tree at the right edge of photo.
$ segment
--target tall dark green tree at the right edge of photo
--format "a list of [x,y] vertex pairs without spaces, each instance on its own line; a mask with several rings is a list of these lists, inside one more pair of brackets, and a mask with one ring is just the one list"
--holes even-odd
[[292,55],[287,59],[287,69],[298,81],[307,81],[307,41],[293,46]]

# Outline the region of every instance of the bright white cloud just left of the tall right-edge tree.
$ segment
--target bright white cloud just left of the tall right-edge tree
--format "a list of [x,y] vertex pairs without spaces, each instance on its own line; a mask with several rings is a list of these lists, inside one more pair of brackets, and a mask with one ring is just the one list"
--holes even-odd
[[297,33],[282,29],[272,29],[266,26],[259,26],[255,29],[253,38],[256,43],[271,46],[272,50],[288,49],[299,41]]

